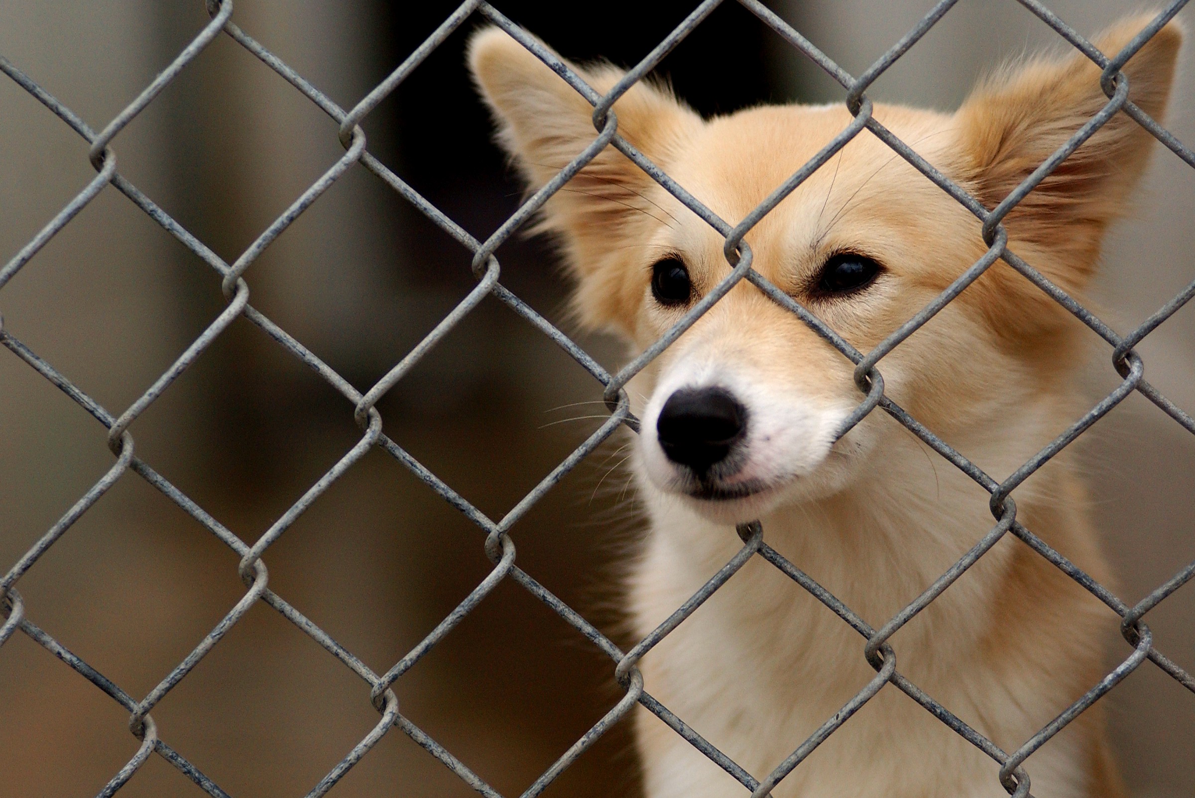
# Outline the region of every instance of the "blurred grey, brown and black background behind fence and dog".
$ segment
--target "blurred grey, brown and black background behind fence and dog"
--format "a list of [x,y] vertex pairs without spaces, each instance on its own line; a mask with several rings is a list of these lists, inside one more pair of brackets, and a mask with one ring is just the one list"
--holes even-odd
[[[692,0],[497,6],[564,55],[633,63]],[[930,0],[786,0],[773,7],[858,74]],[[1139,8],[1052,0],[1093,33]],[[453,4],[244,0],[233,20],[351,106]],[[198,0],[4,0],[0,54],[103,127],[195,36]],[[369,148],[474,235],[517,204],[461,67],[472,24],[367,119]],[[950,109],[975,78],[1058,37],[1012,0],[962,0],[870,94]],[[1195,142],[1183,69],[1168,127]],[[705,113],[842,92],[744,10],[715,12],[662,65]],[[0,262],[93,176],[86,145],[0,79]],[[342,153],[336,125],[227,37],[217,38],[114,142],[120,171],[232,262]],[[1124,330],[1195,276],[1195,172],[1158,147],[1138,213],[1110,237],[1099,312]],[[503,281],[565,325],[551,251],[517,238]],[[357,167],[251,268],[252,302],[364,388],[472,287],[468,256]],[[223,307],[219,280],[115,189],[0,293],[5,327],[114,413]],[[1195,407],[1195,312],[1139,346],[1146,373]],[[608,366],[614,342],[581,337]],[[1107,352],[1085,369],[1095,399]],[[599,386],[488,300],[380,405],[386,431],[498,516],[600,423],[575,403]],[[581,417],[581,418],[578,418]],[[357,440],[351,407],[238,320],[133,426],[137,453],[243,539],[256,539]],[[105,430],[0,350],[0,567],[111,465]],[[1135,601],[1195,558],[1195,441],[1134,394],[1081,443],[1120,594]],[[638,539],[615,446],[590,458],[515,530],[520,564],[625,643],[620,561]],[[489,571],[483,534],[374,452],[270,550],[270,587],[375,670],[415,645]],[[141,696],[243,595],[237,558],[129,474],[20,582],[29,618]],[[1195,589],[1150,615],[1157,645],[1195,668]],[[1115,624],[1110,625],[1110,630]],[[1109,639],[1113,639],[1111,633]],[[1114,644],[1115,645],[1115,644]],[[1109,663],[1123,657],[1121,643]],[[397,685],[404,714],[504,794],[517,794],[612,706],[612,664],[521,588],[503,584]],[[376,722],[366,686],[272,609],[255,607],[154,710],[163,737],[234,796],[302,794]],[[1147,665],[1107,699],[1138,798],[1195,784],[1195,700]],[[796,744],[798,741],[793,741]],[[93,794],[131,756],[127,713],[23,634],[0,651],[0,796]],[[929,754],[929,751],[927,751]],[[551,796],[637,794],[617,728]],[[152,757],[122,794],[201,794]],[[338,796],[473,794],[398,731]],[[1043,797],[1048,798],[1048,797]]]

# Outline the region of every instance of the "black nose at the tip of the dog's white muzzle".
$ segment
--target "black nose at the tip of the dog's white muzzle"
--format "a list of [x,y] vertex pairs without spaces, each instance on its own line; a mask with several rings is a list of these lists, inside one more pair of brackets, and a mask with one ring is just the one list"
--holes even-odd
[[656,437],[668,459],[704,474],[722,462],[747,428],[747,409],[725,388],[681,388],[668,397]]

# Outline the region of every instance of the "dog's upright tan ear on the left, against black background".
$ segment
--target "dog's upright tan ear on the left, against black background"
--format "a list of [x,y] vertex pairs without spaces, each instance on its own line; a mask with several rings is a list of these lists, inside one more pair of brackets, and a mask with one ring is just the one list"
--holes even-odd
[[[474,33],[468,66],[498,123],[498,142],[529,189],[552,179],[598,137],[593,106],[505,31],[486,27]],[[624,74],[611,66],[569,67],[602,93]],[[700,117],[670,92],[643,81],[619,98],[614,112],[619,135],[656,164],[667,162],[669,153],[701,125]],[[652,223],[654,209],[642,195],[651,186],[643,170],[606,147],[544,208],[540,229],[559,234],[578,280],[576,307],[590,326],[615,321],[618,294],[627,288],[608,284],[614,270],[602,266],[623,257],[619,252],[629,241],[643,240],[642,226]]]

